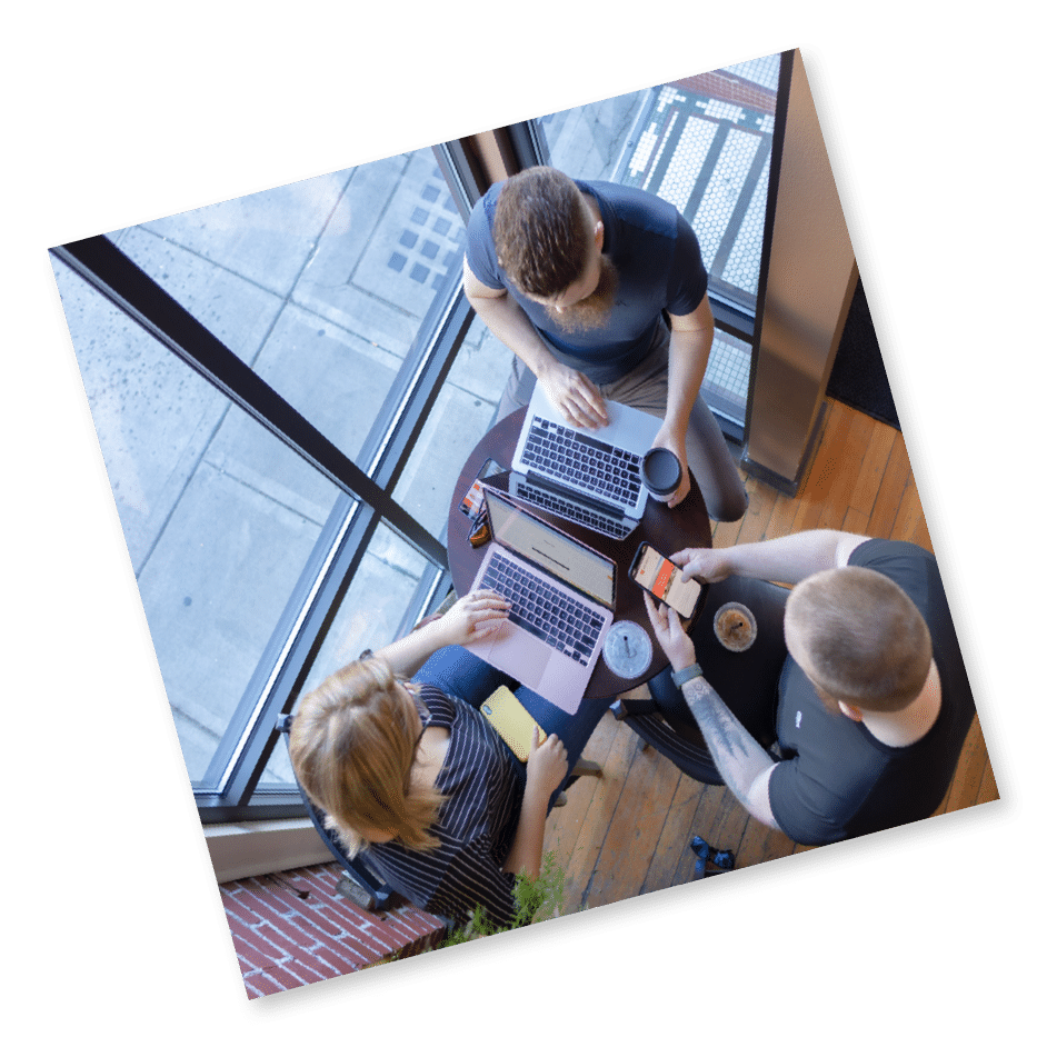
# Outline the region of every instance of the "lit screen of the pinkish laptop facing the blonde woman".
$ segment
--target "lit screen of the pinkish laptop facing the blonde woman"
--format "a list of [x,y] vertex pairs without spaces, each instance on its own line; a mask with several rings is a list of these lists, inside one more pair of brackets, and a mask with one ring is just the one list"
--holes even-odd
[[491,532],[499,545],[547,570],[560,581],[615,609],[615,564],[568,538],[537,517],[486,490]]

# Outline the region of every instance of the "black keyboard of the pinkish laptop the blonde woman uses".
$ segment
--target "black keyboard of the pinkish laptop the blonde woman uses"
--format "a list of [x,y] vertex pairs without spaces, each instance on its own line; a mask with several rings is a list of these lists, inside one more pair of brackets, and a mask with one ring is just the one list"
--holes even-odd
[[495,589],[509,601],[509,621],[575,661],[588,664],[601,621],[584,604],[522,570],[500,552],[491,556],[480,588]]

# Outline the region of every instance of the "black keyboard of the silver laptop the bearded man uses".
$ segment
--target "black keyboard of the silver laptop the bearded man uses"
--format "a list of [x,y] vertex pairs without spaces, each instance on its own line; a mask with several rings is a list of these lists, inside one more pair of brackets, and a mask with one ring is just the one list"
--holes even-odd
[[599,498],[634,506],[640,493],[640,457],[592,437],[535,418],[522,462],[575,483]]

